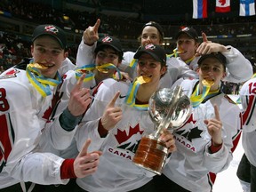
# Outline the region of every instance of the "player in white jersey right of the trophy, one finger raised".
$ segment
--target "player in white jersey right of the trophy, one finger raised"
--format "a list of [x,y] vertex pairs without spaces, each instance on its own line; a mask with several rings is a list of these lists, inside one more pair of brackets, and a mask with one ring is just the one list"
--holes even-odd
[[[177,151],[156,177],[158,191],[209,192],[210,172],[221,172],[232,160],[241,135],[241,112],[228,96],[220,92],[226,76],[226,57],[220,53],[203,55],[198,60],[199,80],[178,80],[193,106],[188,121],[173,133]],[[174,86],[174,84],[173,84]]]

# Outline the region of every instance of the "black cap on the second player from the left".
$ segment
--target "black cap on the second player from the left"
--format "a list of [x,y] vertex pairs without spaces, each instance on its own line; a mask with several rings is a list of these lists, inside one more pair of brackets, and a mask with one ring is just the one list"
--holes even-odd
[[97,45],[96,45],[94,52],[99,52],[101,48],[103,48],[107,45],[112,47],[114,50],[116,50],[116,52],[119,52],[121,54],[121,56],[123,56],[122,45],[121,45],[119,39],[114,36],[101,37],[97,41]]

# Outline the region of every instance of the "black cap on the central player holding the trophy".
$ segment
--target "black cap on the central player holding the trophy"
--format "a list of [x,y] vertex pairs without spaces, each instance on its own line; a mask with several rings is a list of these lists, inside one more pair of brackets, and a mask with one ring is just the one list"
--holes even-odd
[[166,53],[164,48],[157,44],[147,44],[145,46],[141,46],[140,49],[135,53],[134,59],[139,59],[143,53],[148,53],[155,60],[166,64]]

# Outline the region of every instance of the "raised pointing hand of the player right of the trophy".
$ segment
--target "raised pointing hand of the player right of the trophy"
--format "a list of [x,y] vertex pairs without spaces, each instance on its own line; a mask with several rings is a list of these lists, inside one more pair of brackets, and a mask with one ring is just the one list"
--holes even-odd
[[214,105],[215,118],[205,119],[204,124],[207,125],[207,130],[212,136],[213,146],[219,146],[222,144],[222,122],[220,120],[219,108]]

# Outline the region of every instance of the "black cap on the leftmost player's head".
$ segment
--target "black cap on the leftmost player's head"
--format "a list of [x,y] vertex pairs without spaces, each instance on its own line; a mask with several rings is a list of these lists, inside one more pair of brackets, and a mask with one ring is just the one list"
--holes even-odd
[[64,30],[62,30],[58,26],[51,25],[51,24],[44,24],[44,25],[37,26],[32,35],[32,42],[34,42],[38,36],[45,36],[45,35],[54,37],[60,43],[60,46],[63,49],[66,48],[67,38]]

